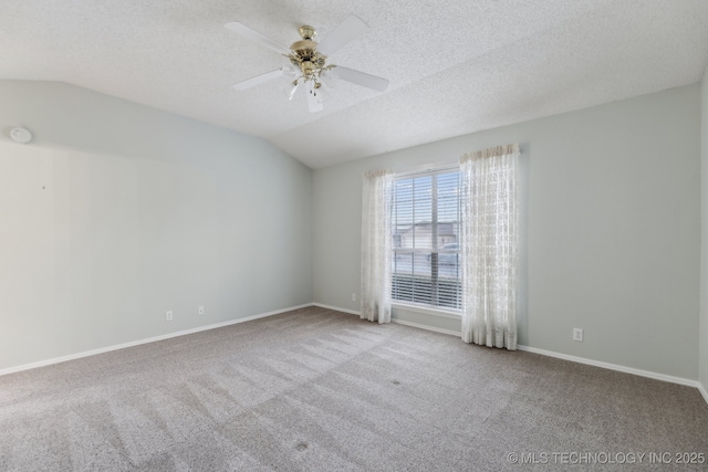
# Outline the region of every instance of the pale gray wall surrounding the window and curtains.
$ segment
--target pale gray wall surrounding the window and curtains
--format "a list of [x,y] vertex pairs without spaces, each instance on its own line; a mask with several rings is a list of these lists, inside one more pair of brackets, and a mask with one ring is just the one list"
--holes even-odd
[[[697,379],[698,84],[315,170],[315,303],[358,310],[365,170],[514,141],[527,203],[519,343]],[[459,331],[452,318],[394,317]]]

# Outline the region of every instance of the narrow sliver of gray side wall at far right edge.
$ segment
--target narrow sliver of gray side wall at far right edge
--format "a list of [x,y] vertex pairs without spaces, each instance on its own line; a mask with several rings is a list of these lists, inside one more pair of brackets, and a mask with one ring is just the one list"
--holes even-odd
[[[708,391],[708,67],[701,82],[701,253],[700,253],[700,375]],[[708,399],[707,399],[708,400]]]

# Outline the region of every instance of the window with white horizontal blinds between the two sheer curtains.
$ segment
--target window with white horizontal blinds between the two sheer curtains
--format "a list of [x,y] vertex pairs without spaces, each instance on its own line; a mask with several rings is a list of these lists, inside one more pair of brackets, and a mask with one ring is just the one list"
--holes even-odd
[[394,179],[394,302],[461,308],[459,187],[457,166]]

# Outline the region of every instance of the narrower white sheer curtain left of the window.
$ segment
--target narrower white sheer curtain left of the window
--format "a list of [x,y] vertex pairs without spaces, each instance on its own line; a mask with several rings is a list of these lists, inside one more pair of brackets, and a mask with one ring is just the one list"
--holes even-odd
[[369,322],[391,323],[391,210],[394,174],[364,174],[362,200],[362,314]]

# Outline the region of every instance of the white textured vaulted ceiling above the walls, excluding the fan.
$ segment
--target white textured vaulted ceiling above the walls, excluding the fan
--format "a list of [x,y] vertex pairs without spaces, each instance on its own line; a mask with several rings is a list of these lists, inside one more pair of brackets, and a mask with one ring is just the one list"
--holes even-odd
[[[340,82],[324,112],[285,80],[231,85],[356,14],[330,62],[391,80]],[[261,136],[312,168],[698,82],[706,0],[2,0],[0,78],[62,81]]]

